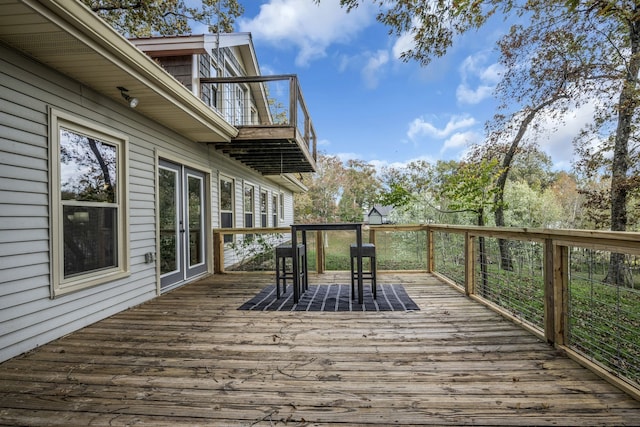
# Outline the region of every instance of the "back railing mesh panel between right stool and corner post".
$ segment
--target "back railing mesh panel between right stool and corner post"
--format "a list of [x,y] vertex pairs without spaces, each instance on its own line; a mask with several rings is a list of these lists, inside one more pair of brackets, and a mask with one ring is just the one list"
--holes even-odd
[[378,270],[426,270],[428,259],[425,230],[376,232]]

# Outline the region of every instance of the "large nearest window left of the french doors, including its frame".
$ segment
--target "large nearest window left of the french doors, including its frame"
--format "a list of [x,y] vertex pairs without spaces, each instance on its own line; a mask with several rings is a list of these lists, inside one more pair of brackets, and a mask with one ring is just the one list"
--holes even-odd
[[127,139],[51,111],[52,295],[128,274]]

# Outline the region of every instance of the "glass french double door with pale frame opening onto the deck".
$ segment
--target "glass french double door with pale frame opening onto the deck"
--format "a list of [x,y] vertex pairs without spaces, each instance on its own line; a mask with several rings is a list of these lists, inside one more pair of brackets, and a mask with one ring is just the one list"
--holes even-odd
[[160,160],[160,289],[207,271],[205,174]]

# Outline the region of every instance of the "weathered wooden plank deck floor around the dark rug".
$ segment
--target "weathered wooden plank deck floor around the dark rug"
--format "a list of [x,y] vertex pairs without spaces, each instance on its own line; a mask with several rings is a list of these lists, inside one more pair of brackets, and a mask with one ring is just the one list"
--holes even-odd
[[[0,365],[0,425],[639,425],[640,402],[426,274],[421,311],[247,312],[216,275]],[[312,276],[348,283],[348,276]]]

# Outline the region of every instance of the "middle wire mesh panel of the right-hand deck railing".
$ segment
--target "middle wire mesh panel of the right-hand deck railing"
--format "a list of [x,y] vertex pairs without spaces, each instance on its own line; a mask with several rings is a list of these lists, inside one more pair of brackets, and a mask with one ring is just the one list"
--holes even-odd
[[476,293],[544,330],[544,244],[476,238]]

